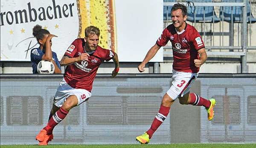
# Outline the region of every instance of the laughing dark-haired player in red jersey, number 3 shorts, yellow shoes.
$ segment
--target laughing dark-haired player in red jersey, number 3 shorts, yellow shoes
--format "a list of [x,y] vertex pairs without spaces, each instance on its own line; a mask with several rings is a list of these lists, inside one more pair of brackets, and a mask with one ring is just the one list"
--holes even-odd
[[160,109],[155,116],[150,129],[136,139],[147,144],[153,133],[162,124],[169,114],[172,103],[178,98],[180,104],[204,106],[208,113],[208,120],[214,116],[215,99],[204,99],[195,93],[190,93],[191,84],[198,76],[199,68],[207,59],[204,42],[195,27],[186,23],[186,6],[176,3],[172,7],[172,24],[163,30],[156,44],[149,49],[142,63],[138,66],[140,72],[145,71],[145,64],[154,57],[161,46],[168,41],[172,43],[173,70],[172,86],[163,96]]

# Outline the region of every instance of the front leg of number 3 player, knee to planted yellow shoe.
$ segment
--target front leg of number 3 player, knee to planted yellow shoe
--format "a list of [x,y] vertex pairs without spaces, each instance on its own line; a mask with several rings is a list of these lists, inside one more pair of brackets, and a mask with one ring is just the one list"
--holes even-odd
[[157,128],[160,127],[160,125],[163,123],[163,121],[166,119],[167,115],[169,114],[170,107],[173,104],[174,100],[166,93],[163,96],[162,103],[160,105],[160,109],[157,113],[157,116],[155,116],[151,127],[143,133],[140,136],[136,137],[136,140],[139,141],[141,144],[148,144],[152,135],[157,130]]

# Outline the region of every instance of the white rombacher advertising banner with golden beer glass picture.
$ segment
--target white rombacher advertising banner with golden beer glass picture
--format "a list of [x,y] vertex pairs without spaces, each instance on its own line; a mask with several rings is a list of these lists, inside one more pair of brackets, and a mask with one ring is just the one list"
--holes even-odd
[[[41,25],[52,38],[60,60],[84,29],[101,30],[99,46],[118,53],[119,61],[142,61],[163,31],[162,0],[1,0],[0,60],[30,61],[39,44],[32,35]],[[151,61],[163,61],[163,51]]]

